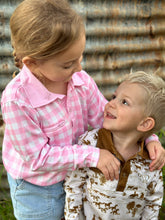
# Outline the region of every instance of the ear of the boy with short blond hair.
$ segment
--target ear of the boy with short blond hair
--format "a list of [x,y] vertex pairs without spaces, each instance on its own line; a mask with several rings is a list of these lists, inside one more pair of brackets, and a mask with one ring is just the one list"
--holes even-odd
[[155,126],[155,120],[151,117],[145,118],[137,126],[137,130],[141,132],[150,131]]

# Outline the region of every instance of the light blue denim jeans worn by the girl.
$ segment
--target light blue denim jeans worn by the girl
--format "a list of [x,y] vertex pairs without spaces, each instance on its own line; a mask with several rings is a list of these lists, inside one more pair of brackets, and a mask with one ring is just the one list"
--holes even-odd
[[17,220],[61,220],[64,216],[63,181],[37,186],[8,174],[8,182]]

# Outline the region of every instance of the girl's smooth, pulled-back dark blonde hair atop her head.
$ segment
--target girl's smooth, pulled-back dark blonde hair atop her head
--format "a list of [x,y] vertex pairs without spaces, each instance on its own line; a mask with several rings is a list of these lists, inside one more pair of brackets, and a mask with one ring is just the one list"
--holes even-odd
[[10,18],[10,29],[18,59],[46,59],[85,32],[82,18],[65,0],[24,0]]

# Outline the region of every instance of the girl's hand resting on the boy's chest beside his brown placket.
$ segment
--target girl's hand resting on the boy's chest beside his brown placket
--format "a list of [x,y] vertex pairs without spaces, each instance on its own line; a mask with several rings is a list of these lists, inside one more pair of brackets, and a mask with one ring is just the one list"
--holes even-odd
[[107,180],[119,179],[119,160],[109,151],[100,149],[100,157],[97,168],[101,170]]

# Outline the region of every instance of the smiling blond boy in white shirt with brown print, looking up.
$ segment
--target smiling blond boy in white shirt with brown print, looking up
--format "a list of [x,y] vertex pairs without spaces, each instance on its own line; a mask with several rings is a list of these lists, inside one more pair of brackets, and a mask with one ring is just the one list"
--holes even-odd
[[121,162],[119,180],[97,168],[68,173],[65,219],[158,219],[162,172],[149,171],[144,139],[165,125],[165,82],[144,72],[128,75],[104,110],[103,128],[86,132],[79,144],[109,150]]

